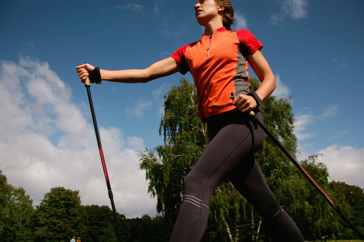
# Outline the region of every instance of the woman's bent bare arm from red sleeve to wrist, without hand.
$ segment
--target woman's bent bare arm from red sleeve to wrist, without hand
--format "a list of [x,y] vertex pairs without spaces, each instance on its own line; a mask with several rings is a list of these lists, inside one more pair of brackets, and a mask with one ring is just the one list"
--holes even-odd
[[261,82],[261,85],[255,92],[261,100],[264,100],[276,89],[276,78],[260,50],[250,54],[248,62]]

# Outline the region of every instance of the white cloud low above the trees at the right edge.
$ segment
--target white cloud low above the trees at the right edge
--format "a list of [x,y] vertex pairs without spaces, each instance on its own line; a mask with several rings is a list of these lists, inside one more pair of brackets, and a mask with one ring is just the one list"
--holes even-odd
[[320,161],[329,169],[331,179],[364,188],[364,148],[337,144],[321,149]]

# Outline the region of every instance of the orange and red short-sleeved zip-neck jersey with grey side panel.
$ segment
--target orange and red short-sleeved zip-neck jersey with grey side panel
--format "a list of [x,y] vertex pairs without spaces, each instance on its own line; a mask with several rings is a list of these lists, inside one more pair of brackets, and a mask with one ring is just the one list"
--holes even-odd
[[201,40],[184,45],[172,58],[190,71],[197,88],[198,114],[205,118],[233,110],[231,93],[249,93],[247,56],[263,48],[246,29],[230,31],[225,27],[215,30],[212,36],[202,35]]

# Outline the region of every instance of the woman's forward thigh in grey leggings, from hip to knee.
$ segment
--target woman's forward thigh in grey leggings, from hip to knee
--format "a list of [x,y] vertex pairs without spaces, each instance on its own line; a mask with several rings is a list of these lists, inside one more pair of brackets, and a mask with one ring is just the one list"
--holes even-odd
[[254,125],[229,124],[211,140],[201,157],[185,179],[185,193],[201,200],[210,199],[216,186],[237,166],[251,167],[245,160],[252,149],[261,146],[264,134]]

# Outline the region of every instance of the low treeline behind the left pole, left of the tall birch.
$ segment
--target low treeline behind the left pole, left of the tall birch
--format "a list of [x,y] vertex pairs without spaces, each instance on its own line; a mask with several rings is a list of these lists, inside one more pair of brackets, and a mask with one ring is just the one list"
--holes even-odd
[[[39,205],[33,207],[23,188],[7,183],[0,171],[1,242],[118,242],[111,209],[99,205],[81,205],[79,191],[52,188]],[[123,241],[169,241],[171,226],[162,216],[125,218],[118,214]]]

